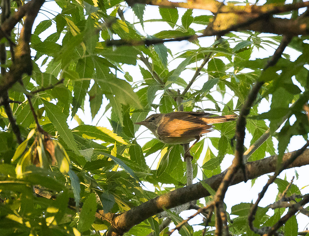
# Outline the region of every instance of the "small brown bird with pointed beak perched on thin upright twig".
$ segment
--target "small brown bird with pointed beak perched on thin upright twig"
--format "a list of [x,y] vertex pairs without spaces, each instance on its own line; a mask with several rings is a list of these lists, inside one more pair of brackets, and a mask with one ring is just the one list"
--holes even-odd
[[185,144],[196,140],[185,152],[184,156],[187,156],[203,134],[214,130],[212,124],[232,121],[237,118],[236,115],[211,117],[212,115],[196,111],[175,111],[167,114],[153,114],[135,124],[146,126],[155,137],[167,144]]

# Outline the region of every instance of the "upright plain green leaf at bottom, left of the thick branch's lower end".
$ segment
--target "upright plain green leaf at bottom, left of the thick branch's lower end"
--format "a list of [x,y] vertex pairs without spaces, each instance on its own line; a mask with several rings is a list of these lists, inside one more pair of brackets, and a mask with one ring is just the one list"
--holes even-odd
[[97,209],[96,196],[91,193],[83,204],[83,208],[79,213],[77,229],[84,232],[91,229],[93,221],[95,221],[95,212]]

